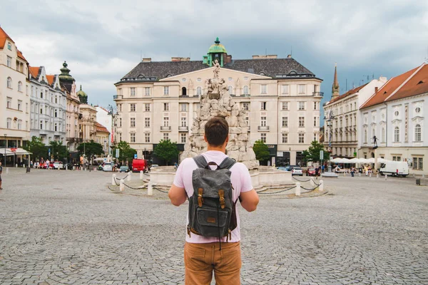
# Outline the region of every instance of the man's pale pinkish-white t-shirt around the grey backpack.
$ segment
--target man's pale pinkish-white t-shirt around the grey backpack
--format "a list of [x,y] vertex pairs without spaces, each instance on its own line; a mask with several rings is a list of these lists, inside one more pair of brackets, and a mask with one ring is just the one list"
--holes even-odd
[[[203,156],[207,162],[215,162],[217,165],[220,165],[221,162],[227,157],[223,152],[217,150],[209,150],[208,152],[203,153]],[[195,163],[193,158],[186,158],[178,166],[178,170],[175,173],[174,185],[180,188],[184,188],[187,192],[188,197],[193,195],[193,184],[192,184],[192,174],[193,170],[197,169],[198,166]],[[253,190],[253,185],[251,184],[250,172],[248,172],[247,167],[240,162],[236,162],[233,167],[230,168],[230,182],[233,185],[233,201],[236,201],[240,195],[240,192],[248,192]],[[229,239],[229,242],[239,242],[240,241],[240,221],[238,214],[238,207],[236,210],[236,222],[237,227],[232,231],[232,238]],[[189,220],[189,219],[188,219]],[[188,222],[187,222],[188,223]],[[186,228],[185,228],[186,229]],[[195,244],[207,244],[210,242],[218,242],[218,237],[202,237],[198,234],[190,233],[190,237],[187,234],[187,229],[185,230],[185,241]],[[226,237],[222,237],[221,242],[226,242]]]

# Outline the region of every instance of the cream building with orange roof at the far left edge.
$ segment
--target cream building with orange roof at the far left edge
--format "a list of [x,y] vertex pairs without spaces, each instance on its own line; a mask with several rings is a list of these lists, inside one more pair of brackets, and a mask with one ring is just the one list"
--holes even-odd
[[30,139],[28,62],[0,28],[0,145],[16,148]]

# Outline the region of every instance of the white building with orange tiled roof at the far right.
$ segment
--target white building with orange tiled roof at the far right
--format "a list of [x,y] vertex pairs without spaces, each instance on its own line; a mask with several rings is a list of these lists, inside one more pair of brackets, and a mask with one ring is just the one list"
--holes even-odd
[[[415,174],[428,174],[428,65],[389,79],[360,110],[362,157],[407,161]],[[374,145],[377,138],[377,148]]]

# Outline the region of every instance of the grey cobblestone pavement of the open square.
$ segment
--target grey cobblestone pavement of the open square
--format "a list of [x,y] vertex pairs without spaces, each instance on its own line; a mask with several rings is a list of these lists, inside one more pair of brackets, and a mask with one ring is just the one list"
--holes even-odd
[[[2,177],[0,284],[183,284],[186,205],[115,194],[103,172]],[[243,284],[428,284],[427,187],[340,177],[325,188],[240,208]]]

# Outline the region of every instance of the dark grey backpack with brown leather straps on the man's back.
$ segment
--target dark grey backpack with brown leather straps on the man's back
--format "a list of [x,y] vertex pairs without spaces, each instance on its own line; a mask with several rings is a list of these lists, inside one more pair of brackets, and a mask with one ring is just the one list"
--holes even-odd
[[[207,162],[203,155],[194,157],[198,168],[193,170],[193,195],[189,199],[190,232],[203,237],[231,238],[231,232],[237,226],[233,186],[230,182],[230,167],[235,160],[226,157],[220,165]],[[210,165],[216,165],[211,170]]]

